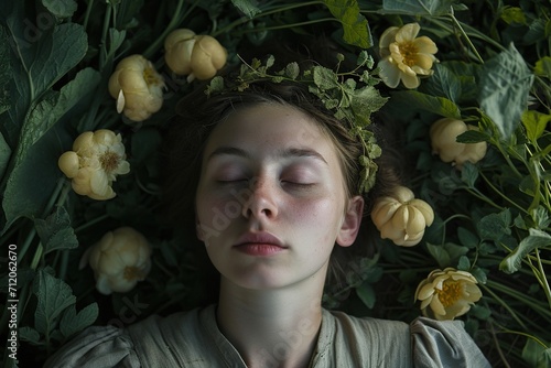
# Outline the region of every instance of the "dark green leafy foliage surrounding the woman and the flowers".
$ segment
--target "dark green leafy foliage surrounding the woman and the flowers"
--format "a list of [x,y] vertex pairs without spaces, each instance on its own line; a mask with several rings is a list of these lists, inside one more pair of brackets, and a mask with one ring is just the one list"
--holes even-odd
[[[229,64],[239,51],[321,32],[377,59],[378,36],[413,21],[436,43],[440,63],[417,90],[382,88],[390,96],[383,113],[402,125],[397,142],[409,158],[407,184],[436,219],[421,245],[382,241],[375,258],[350,264],[349,286],[328,290],[326,305],[411,321],[420,314],[418,283],[433,269],[454,267],[472,272],[483,290],[462,320],[493,366],[551,366],[549,1],[1,0],[0,8],[0,328],[9,333],[13,243],[20,366],[39,365],[90,324],[123,326],[213,297],[204,255],[159,216],[159,128],[194,86],[164,66],[170,31],[217,37]],[[118,61],[136,53],[155,64],[168,90],[160,112],[129,125],[107,80]],[[458,171],[432,155],[428,131],[441,117],[478,125],[479,132],[458,140],[487,141],[486,158]],[[80,132],[99,128],[122,133],[132,170],[108,202],[77,196],[57,169]],[[78,262],[122,225],[148,237],[153,270],[131,292],[104,296]],[[6,351],[3,366],[15,366]]]

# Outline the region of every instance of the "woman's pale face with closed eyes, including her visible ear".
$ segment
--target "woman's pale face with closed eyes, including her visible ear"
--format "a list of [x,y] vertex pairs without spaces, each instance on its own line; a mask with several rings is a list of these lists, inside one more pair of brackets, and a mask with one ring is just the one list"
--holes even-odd
[[233,112],[205,148],[197,236],[237,285],[325,280],[335,241],[349,246],[361,217],[344,185],[334,144],[303,112],[271,104]]

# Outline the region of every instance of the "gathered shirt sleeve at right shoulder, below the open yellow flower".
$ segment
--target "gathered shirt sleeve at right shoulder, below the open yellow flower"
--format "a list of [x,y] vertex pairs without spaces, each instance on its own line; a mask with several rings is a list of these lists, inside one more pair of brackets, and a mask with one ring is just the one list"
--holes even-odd
[[462,321],[419,317],[410,329],[415,367],[490,367]]

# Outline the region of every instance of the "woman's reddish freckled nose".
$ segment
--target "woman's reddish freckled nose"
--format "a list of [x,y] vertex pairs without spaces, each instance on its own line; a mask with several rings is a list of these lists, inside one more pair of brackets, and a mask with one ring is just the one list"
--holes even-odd
[[242,216],[246,218],[268,218],[278,216],[277,184],[267,177],[257,177],[250,185],[251,194],[242,206]]

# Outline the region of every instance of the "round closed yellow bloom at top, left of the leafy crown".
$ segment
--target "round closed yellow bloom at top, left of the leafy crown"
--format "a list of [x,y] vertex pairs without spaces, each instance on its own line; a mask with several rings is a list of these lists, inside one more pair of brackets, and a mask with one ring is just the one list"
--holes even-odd
[[164,50],[166,65],[174,74],[187,75],[187,82],[214,77],[228,56],[216,39],[187,29],[172,31],[164,40]]

